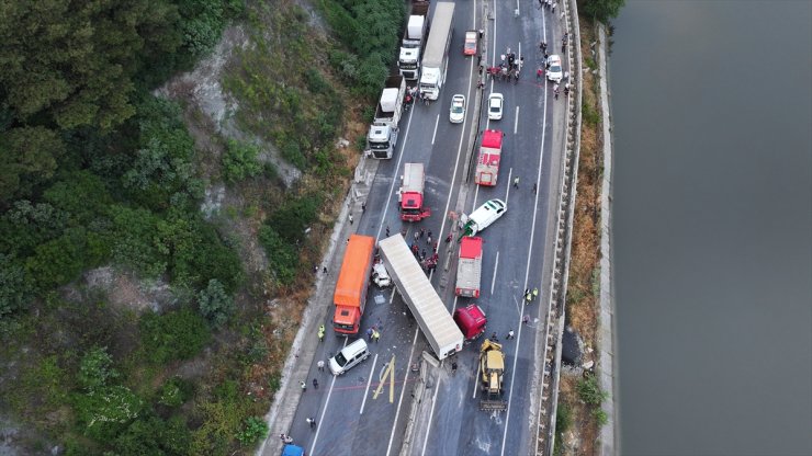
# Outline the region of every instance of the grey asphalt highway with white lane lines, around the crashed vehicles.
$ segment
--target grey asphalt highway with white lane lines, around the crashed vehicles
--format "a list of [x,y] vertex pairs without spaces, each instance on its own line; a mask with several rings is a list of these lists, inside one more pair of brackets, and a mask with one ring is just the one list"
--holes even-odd
[[[354,221],[358,233],[381,239],[405,232],[407,240],[416,229],[424,228],[440,242],[440,262],[432,283],[450,311],[464,306],[469,298],[453,296],[455,259],[443,271],[447,250],[443,238],[451,230],[450,212],[462,208],[470,213],[490,198],[508,203],[505,216],[482,232],[485,240],[482,295],[475,301],[488,317],[487,334],[496,332],[506,353],[505,400],[507,411],[485,412],[478,409],[477,379],[478,343],[467,344],[458,354],[458,372],[450,373],[449,362],[441,365],[443,375],[427,394],[432,395],[429,432],[413,442],[413,454],[422,455],[516,455],[528,454],[533,447],[530,429],[534,408],[533,372],[541,357],[537,338],[549,297],[552,270],[552,239],[555,224],[555,202],[559,197],[559,173],[563,141],[564,101],[553,100],[552,84],[537,81],[540,65],[538,43],[560,45],[557,15],[523,2],[515,16],[517,3],[496,3],[492,19],[483,20],[482,1],[456,2],[454,33],[451,43],[446,86],[438,101],[430,105],[416,104],[401,121],[397,151],[391,160],[382,160],[365,212]],[[436,2],[432,2],[432,11]],[[476,57],[462,55],[466,30],[487,27],[483,65],[496,65],[499,55],[509,47],[517,57],[525,57],[521,79],[517,82],[487,81],[481,93],[483,109],[475,110]],[[557,41],[556,41],[557,39]],[[411,82],[411,81],[409,81]],[[407,82],[408,83],[408,82]],[[414,82],[411,82],[414,83]],[[485,101],[489,93],[505,95],[504,117],[488,121]],[[449,123],[451,96],[462,93],[467,100],[465,121]],[[563,96],[562,96],[563,98]],[[556,104],[557,103],[557,104]],[[473,170],[465,173],[471,150],[478,146],[480,135],[472,128],[501,129],[506,136],[498,185],[478,187],[473,183]],[[471,144],[471,138],[475,144]],[[474,156],[476,151],[474,151]],[[474,157],[475,160],[475,157]],[[427,205],[432,215],[420,223],[401,221],[397,212],[397,187],[406,162],[426,164]],[[519,176],[519,186],[512,186]],[[533,192],[533,183],[538,191]],[[462,190],[462,193],[461,193]],[[431,246],[421,240],[421,248]],[[454,252],[455,253],[455,252]],[[539,299],[526,306],[525,288],[539,287]],[[530,322],[522,324],[528,315]],[[405,420],[411,401],[416,374],[409,366],[422,351],[430,351],[409,309],[390,289],[371,285],[361,334],[372,326],[381,332],[380,342],[370,342],[372,356],[347,374],[334,377],[329,371],[318,372],[315,363],[327,360],[352,341],[337,337],[331,330],[332,312],[325,326],[328,333],[319,344],[311,366],[308,389],[302,396],[290,434],[307,449],[308,455],[395,455],[403,444]],[[516,339],[505,340],[508,330]],[[481,342],[481,341],[480,341]],[[314,388],[309,379],[319,381]],[[306,418],[315,418],[313,429]]]

